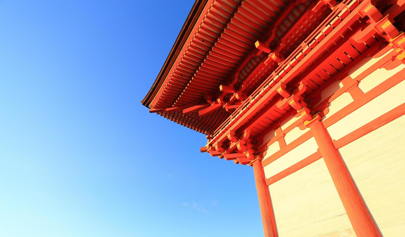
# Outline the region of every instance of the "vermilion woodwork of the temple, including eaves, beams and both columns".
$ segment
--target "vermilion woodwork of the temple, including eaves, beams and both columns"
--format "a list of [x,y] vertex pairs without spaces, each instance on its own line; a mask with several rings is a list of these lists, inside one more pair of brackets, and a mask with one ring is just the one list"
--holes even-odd
[[[321,157],[356,235],[379,236],[337,148],[403,115],[405,105],[338,141],[326,128],[404,80],[404,11],[402,0],[198,0],[143,104],[206,134],[201,152],[253,166],[266,236],[277,236],[267,186]],[[367,87],[382,68],[398,71]],[[346,106],[336,107],[342,100]],[[312,136],[319,151],[264,179],[263,166],[295,156]]]

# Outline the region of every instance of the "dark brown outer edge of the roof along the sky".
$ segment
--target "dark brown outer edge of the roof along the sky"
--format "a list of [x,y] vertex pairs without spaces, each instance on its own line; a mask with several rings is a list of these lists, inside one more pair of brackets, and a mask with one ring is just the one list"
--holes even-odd
[[179,36],[177,36],[177,39],[173,44],[173,47],[170,50],[170,53],[167,56],[162,69],[160,69],[158,77],[156,78],[155,82],[153,82],[153,85],[150,88],[149,92],[146,94],[145,98],[143,98],[143,100],[141,101],[141,103],[146,107],[149,108],[150,103],[152,102],[153,98],[156,96],[156,93],[162,86],[165,78],[167,77],[168,72],[170,71],[172,65],[175,63],[177,55],[179,55],[181,49],[183,48],[185,41],[187,40],[194,25],[196,24],[201,13],[203,12],[203,9],[205,8],[207,2],[208,0],[196,0],[196,2],[194,2],[194,5],[187,16],[187,19],[185,20],[183,27],[181,27]]

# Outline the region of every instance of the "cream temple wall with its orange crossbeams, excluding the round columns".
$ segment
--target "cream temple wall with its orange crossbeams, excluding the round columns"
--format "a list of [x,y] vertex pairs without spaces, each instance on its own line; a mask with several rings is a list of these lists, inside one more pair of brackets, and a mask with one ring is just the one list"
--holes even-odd
[[[384,64],[391,51],[349,70],[360,96],[340,78],[318,103],[329,100],[322,122],[386,237],[405,233],[405,64]],[[371,70],[375,64],[382,66]],[[292,112],[265,138],[262,164],[279,236],[356,236],[301,117]]]

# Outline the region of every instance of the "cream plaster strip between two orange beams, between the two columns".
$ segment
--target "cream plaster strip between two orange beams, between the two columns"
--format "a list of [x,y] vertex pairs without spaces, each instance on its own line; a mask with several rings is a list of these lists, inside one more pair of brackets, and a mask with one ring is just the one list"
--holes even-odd
[[286,168],[296,164],[316,152],[318,145],[315,142],[315,138],[311,137],[298,147],[292,149],[290,152],[282,155],[280,158],[271,162],[267,166],[263,167],[264,176],[270,178],[271,176],[278,174]]

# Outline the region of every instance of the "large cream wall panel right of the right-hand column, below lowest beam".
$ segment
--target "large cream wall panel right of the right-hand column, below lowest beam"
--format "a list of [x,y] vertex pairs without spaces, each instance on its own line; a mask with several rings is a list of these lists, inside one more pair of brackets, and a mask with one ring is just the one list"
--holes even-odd
[[405,235],[405,115],[339,149],[385,237]]

